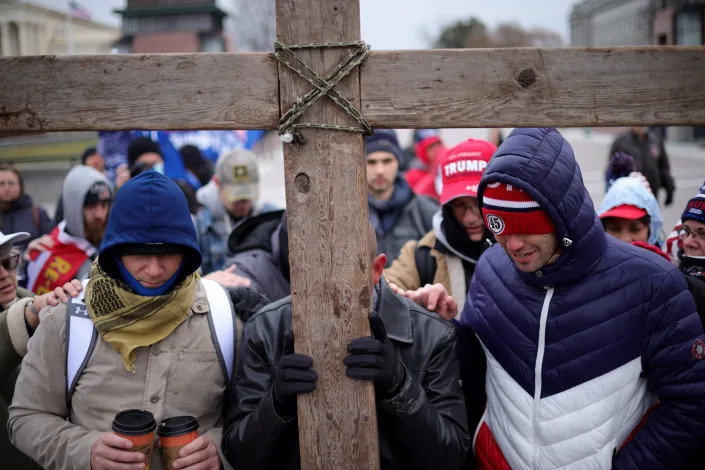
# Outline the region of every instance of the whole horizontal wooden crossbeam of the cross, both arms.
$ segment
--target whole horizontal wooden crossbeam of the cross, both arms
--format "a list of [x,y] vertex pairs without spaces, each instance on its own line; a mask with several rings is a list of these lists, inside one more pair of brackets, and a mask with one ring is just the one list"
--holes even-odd
[[[372,52],[374,127],[705,125],[705,48]],[[0,59],[0,133],[274,129],[268,54]]]

